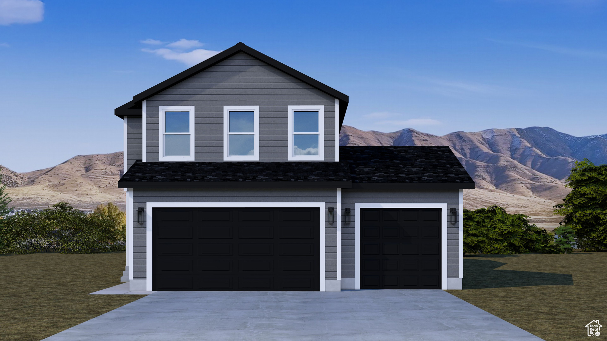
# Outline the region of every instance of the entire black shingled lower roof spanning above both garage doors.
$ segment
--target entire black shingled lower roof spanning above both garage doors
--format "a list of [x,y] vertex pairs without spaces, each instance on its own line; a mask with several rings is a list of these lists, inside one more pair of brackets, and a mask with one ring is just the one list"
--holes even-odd
[[352,188],[472,189],[448,146],[340,147],[341,162],[141,162],[118,181],[140,189]]

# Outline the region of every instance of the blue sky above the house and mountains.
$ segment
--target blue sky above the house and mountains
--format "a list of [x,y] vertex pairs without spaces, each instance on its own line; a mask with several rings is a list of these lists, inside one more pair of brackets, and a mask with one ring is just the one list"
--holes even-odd
[[349,95],[359,129],[607,133],[606,33],[603,0],[0,0],[0,164],[121,150],[115,107],[239,41]]

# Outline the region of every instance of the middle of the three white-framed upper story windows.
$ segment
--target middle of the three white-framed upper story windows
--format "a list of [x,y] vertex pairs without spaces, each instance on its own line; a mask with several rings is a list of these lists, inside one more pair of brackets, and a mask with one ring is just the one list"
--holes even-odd
[[223,160],[259,161],[259,106],[223,107]]

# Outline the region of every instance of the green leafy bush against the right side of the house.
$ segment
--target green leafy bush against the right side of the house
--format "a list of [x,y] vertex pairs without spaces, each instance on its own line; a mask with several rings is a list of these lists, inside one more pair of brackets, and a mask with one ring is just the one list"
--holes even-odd
[[561,253],[552,244],[552,234],[527,218],[524,214],[507,214],[497,205],[475,211],[464,209],[464,253]]

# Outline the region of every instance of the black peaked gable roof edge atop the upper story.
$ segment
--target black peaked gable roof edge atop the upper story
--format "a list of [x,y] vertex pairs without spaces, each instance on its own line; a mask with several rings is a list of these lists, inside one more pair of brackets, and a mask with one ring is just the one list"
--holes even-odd
[[166,81],[156,84],[148,90],[138,93],[137,95],[133,96],[132,101],[129,101],[128,103],[125,103],[122,106],[114,109],[114,115],[120,118],[124,118],[124,116],[131,115],[141,116],[141,103],[143,102],[143,100],[146,100],[147,98],[150,98],[151,96],[154,96],[157,93],[160,93],[161,91],[166,90],[177,83],[180,83],[184,79],[189,78],[199,72],[202,72],[208,69],[209,67],[214,66],[218,62],[223,61],[240,52],[244,52],[247,55],[253,56],[254,58],[259,59],[260,61],[265,62],[266,64],[273,66],[284,73],[287,73],[287,75],[297,78],[300,81],[312,87],[315,87],[316,89],[319,89],[320,91],[325,92],[328,95],[333,96],[334,98],[337,98],[339,100],[339,127],[342,126],[342,124],[344,123],[345,111],[348,108],[348,102],[350,101],[348,95],[345,95],[344,93],[333,89],[327,84],[320,83],[316,79],[304,75],[304,73],[301,73],[293,69],[292,67],[282,64],[282,62],[279,62],[276,59],[271,58],[270,56],[266,56],[263,53],[246,46],[242,42],[239,42],[238,44],[230,47],[227,50],[217,53],[217,55],[214,55],[211,58],[208,58],[205,61],[202,61],[196,64],[195,66],[192,66],[189,69],[180,72],[175,76],[172,76],[169,79],[166,79]]

